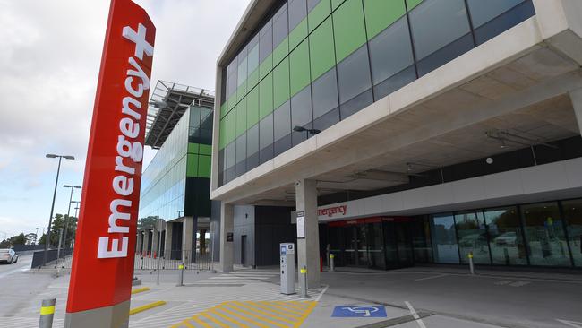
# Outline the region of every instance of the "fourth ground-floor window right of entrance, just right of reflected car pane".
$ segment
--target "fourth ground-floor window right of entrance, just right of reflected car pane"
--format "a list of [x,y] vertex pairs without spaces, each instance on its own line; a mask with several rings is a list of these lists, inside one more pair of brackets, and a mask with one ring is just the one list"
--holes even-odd
[[568,243],[558,203],[536,203],[522,207],[529,263],[569,266]]

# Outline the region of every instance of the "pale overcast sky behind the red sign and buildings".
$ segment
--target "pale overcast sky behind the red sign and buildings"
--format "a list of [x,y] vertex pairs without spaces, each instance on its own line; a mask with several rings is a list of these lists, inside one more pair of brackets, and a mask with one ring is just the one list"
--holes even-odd
[[[157,28],[152,84],[214,89],[218,54],[249,0],[136,0]],[[0,0],[0,239],[47,227],[82,184],[107,0]],[[153,151],[147,151],[144,167]],[[79,200],[76,192],[73,200]],[[74,210],[72,211],[72,215]]]

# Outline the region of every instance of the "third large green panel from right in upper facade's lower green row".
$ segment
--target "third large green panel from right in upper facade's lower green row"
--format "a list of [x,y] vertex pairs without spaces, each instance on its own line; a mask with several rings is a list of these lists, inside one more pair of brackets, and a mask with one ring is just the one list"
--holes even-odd
[[311,57],[312,81],[336,65],[336,55],[333,45],[333,27],[331,17],[321,23],[321,26],[309,36],[309,52]]

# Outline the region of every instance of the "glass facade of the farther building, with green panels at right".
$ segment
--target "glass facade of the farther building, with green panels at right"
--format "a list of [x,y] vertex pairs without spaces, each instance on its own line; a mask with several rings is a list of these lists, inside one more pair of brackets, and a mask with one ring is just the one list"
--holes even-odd
[[191,105],[141,176],[140,218],[210,217],[213,109]]

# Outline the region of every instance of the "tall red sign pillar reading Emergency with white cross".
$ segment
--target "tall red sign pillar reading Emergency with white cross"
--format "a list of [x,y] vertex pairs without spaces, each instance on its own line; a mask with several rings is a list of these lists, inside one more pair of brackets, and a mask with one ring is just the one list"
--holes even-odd
[[111,1],[75,238],[68,328],[128,326],[155,33],[139,5]]

